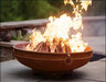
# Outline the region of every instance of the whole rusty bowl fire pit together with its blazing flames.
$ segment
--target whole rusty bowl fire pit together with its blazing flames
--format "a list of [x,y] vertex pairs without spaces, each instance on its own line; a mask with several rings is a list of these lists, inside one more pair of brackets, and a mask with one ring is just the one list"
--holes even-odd
[[[76,1],[78,3],[78,1]],[[30,43],[14,45],[14,55],[23,65],[41,72],[66,72],[86,65],[92,58],[92,48],[82,39],[82,12],[92,1],[64,0],[73,5],[75,17],[64,13],[50,16],[43,33],[33,30]]]

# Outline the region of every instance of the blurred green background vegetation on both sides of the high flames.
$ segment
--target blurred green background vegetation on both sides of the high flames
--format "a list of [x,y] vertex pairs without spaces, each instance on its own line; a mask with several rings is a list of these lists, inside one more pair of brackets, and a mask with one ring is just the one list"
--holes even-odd
[[[70,13],[73,8],[64,0],[0,0],[0,22],[45,19],[50,15]],[[103,15],[105,2],[94,1],[84,15]]]

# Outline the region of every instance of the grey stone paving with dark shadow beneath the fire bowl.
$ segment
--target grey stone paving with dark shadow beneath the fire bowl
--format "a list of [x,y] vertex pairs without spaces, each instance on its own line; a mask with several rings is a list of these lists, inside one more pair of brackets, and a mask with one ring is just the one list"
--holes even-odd
[[1,82],[106,82],[105,61],[88,62],[59,79],[38,75],[17,60],[4,61],[1,62]]

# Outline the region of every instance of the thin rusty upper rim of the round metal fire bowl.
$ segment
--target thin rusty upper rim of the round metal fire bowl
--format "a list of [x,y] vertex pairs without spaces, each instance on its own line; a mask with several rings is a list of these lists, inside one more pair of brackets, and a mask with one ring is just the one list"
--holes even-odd
[[[22,45],[23,44],[29,44],[29,42],[25,42],[25,43],[21,43]],[[17,46],[18,45],[21,45],[21,44],[15,44],[13,45],[13,49],[17,49],[17,50],[21,50],[21,51],[25,51],[25,52],[34,52],[34,54],[57,54],[57,55],[66,55],[66,54],[82,54],[82,52],[89,52],[89,51],[93,51],[92,47],[89,47],[91,49],[89,50],[85,50],[85,51],[80,51],[80,52],[38,52],[38,51],[32,51],[32,50],[25,50],[25,49],[21,49],[21,48],[18,48]]]

